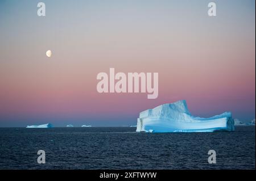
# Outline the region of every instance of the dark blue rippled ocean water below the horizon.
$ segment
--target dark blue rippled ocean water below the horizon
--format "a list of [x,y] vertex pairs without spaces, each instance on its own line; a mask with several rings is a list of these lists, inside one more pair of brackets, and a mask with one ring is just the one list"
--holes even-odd
[[[0,128],[0,169],[255,169],[255,127],[137,133],[136,128]],[[38,150],[46,163],[37,162]],[[215,150],[217,163],[208,163]]]

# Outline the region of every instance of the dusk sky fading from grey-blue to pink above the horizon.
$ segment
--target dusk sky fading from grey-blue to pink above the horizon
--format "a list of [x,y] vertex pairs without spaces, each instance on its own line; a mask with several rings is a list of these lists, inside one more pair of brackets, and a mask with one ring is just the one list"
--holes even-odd
[[[38,1],[39,2],[39,1]],[[0,1],[0,127],[136,125],[187,100],[192,115],[255,118],[255,1]],[[52,50],[52,57],[46,51]],[[159,73],[159,95],[97,92],[97,74]]]

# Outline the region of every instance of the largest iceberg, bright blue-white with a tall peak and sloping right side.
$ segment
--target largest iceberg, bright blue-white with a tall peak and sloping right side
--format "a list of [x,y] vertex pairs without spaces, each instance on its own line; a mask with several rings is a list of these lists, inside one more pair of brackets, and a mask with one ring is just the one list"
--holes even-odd
[[209,118],[192,116],[185,100],[143,111],[137,119],[137,132],[234,131],[231,112]]

